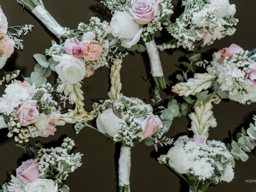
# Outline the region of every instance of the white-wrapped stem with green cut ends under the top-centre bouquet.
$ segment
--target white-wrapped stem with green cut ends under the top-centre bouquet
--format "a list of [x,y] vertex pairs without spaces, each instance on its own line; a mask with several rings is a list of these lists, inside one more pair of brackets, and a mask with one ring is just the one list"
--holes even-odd
[[151,74],[153,76],[156,88],[158,90],[165,89],[166,81],[164,79],[162,64],[160,61],[159,52],[158,52],[155,40],[146,42],[145,46],[148,52]]

